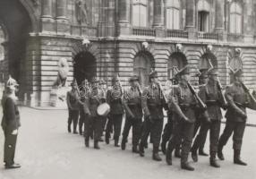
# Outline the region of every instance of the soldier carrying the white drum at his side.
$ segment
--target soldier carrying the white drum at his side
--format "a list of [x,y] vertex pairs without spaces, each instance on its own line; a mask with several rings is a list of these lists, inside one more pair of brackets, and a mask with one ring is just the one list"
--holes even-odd
[[90,134],[93,132],[94,134],[94,149],[100,149],[98,146],[98,140],[101,137],[101,116],[97,114],[97,108],[100,104],[106,101],[104,93],[102,90],[98,89],[98,78],[94,77],[91,81],[91,90],[88,98],[89,109],[88,112],[89,117],[85,118],[84,122],[84,138],[85,138],[85,146],[88,148],[90,146]]

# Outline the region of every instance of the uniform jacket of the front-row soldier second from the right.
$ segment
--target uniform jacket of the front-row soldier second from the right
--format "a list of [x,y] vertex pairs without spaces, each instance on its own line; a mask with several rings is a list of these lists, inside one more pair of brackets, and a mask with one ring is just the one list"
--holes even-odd
[[220,107],[223,105],[221,93],[218,90],[217,84],[210,84],[200,86],[199,97],[207,106],[207,112],[211,120],[220,121],[223,116]]

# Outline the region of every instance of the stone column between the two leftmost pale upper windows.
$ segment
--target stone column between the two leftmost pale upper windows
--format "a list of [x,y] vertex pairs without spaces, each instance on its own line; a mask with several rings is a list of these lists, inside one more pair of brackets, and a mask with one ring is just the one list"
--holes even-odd
[[163,27],[163,2],[162,2],[162,0],[154,0],[153,27]]

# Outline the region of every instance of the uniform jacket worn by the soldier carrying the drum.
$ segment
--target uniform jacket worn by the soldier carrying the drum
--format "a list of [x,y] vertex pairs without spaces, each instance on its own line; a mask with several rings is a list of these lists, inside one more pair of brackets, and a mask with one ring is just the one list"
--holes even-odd
[[90,108],[90,115],[92,117],[98,116],[97,108],[101,103],[106,101],[104,90],[100,90],[95,88],[90,91],[89,95],[89,108]]

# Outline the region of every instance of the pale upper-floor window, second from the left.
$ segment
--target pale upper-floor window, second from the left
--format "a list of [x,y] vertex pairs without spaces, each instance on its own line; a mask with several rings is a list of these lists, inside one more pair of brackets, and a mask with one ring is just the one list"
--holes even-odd
[[180,29],[180,1],[166,1],[166,28],[169,30]]

